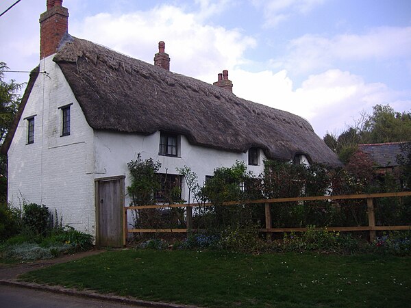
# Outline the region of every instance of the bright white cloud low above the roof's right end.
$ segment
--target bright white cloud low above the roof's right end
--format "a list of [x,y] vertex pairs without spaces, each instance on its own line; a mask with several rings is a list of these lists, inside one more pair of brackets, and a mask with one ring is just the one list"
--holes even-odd
[[321,137],[326,131],[353,125],[362,112],[371,113],[376,104],[390,103],[398,111],[411,105],[409,92],[395,92],[381,83],[366,84],[362,77],[336,69],[310,75],[296,90],[292,90],[286,70],[229,73],[238,97],[306,118]]

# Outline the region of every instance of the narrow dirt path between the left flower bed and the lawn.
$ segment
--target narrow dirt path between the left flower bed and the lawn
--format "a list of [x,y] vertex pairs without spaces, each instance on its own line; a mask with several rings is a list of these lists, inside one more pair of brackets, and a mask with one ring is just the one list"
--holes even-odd
[[74,255],[64,255],[55,259],[38,260],[33,262],[24,262],[18,264],[0,264],[0,280],[16,279],[18,275],[24,274],[31,270],[44,268],[53,264],[66,263],[69,261],[82,259],[90,255],[98,255],[105,252],[104,249],[95,249],[92,251],[84,251],[82,253],[75,253]]

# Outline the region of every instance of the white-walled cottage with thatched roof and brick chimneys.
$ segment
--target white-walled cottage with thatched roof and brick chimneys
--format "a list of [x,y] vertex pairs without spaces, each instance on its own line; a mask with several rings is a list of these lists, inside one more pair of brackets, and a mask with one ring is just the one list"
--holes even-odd
[[13,205],[56,208],[115,246],[138,153],[174,182],[184,165],[202,183],[236,160],[256,174],[266,158],[339,164],[306,120],[236,97],[227,71],[214,84],[172,73],[163,42],[148,64],[70,36],[68,18],[61,0],[40,16],[40,64],[2,147]]

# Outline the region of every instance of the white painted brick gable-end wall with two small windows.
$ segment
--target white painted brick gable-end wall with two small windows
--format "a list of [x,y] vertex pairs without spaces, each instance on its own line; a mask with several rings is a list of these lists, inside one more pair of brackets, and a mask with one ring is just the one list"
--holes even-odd
[[[64,76],[52,61],[40,62],[40,74],[8,151],[8,198],[57,209],[63,223],[95,233],[93,131]],[[71,105],[71,135],[62,135],[58,107]],[[27,144],[28,116],[34,118],[34,143]]]

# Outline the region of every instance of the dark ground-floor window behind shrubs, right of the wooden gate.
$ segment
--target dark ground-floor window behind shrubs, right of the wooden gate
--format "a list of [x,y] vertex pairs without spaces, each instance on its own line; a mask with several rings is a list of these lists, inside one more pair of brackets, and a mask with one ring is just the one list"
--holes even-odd
[[155,192],[155,201],[163,203],[180,201],[182,199],[182,176],[159,173],[158,177],[160,189]]

